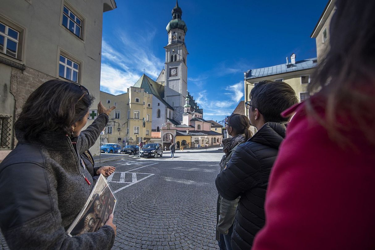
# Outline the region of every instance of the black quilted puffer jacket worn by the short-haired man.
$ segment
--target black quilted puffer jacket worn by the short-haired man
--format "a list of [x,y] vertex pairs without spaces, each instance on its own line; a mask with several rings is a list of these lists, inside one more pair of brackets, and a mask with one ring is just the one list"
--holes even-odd
[[216,177],[216,188],[227,200],[241,196],[231,245],[250,249],[264,226],[264,200],[271,168],[285,137],[285,123],[267,122],[233,153],[227,168]]

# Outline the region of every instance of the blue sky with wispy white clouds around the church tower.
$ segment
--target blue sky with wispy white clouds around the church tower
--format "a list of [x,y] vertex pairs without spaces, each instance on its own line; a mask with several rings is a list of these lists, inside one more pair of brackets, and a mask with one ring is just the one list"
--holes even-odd
[[[101,90],[114,95],[165,62],[174,0],[116,0],[104,13]],[[316,57],[310,38],[327,0],[179,0],[187,25],[187,86],[204,119],[222,120],[244,99],[243,72]]]

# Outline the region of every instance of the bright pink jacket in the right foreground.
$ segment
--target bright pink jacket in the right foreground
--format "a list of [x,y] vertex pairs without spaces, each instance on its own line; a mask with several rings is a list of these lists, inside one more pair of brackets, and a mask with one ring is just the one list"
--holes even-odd
[[294,111],[270,176],[266,224],[252,250],[375,249],[374,146],[354,128],[358,150],[341,147],[306,116],[304,103],[284,114]]

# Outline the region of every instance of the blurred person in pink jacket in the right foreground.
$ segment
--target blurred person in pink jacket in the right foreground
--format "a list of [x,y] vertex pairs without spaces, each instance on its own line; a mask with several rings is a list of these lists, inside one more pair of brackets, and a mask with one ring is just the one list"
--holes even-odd
[[283,113],[254,250],[375,249],[375,1],[336,7],[315,94]]

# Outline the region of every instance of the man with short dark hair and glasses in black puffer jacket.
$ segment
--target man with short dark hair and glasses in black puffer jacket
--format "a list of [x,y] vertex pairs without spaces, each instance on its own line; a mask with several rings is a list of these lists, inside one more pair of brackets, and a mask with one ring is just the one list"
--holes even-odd
[[261,81],[249,97],[245,104],[257,133],[236,148],[215,182],[224,199],[241,197],[231,238],[233,250],[251,249],[255,234],[264,226],[268,179],[288,122],[281,112],[298,103],[296,92],[282,81]]

